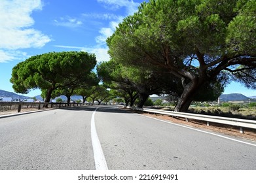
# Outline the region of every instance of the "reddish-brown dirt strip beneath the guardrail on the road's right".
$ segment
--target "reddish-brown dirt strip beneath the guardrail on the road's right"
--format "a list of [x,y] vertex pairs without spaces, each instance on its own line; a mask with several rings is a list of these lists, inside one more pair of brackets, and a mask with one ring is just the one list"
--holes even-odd
[[200,122],[200,121],[195,121],[195,120],[189,120],[189,122],[187,122],[183,118],[173,118],[172,116],[168,116],[168,115],[149,114],[148,112],[142,112],[142,111],[131,110],[131,109],[125,109],[125,110],[130,110],[131,112],[142,114],[142,115],[149,116],[152,118],[157,118],[160,120],[173,122],[175,124],[188,125],[191,127],[196,127],[198,129],[207,129],[209,131],[215,131],[215,132],[223,133],[226,135],[231,135],[233,137],[241,137],[243,139],[248,139],[248,140],[256,142],[256,130],[254,130],[254,129],[244,129],[244,133],[240,133],[240,127],[234,127],[232,125],[222,125],[222,124],[210,123],[210,125],[208,126],[206,124],[206,122]]

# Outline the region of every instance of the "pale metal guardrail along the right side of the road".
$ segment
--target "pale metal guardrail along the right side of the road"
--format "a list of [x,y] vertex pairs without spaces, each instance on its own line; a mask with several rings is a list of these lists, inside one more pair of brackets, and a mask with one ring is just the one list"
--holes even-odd
[[176,116],[185,119],[192,119],[192,120],[201,120],[207,122],[218,123],[218,124],[227,124],[227,125],[234,125],[240,127],[240,133],[244,133],[243,127],[256,129],[256,121],[255,120],[244,120],[239,118],[227,118],[227,117],[220,117],[220,116],[210,116],[204,114],[192,114],[187,112],[173,112],[173,111],[165,111],[165,110],[157,110],[151,108],[133,108],[134,110],[141,110],[145,112],[151,112],[156,114],[165,114],[169,116]]

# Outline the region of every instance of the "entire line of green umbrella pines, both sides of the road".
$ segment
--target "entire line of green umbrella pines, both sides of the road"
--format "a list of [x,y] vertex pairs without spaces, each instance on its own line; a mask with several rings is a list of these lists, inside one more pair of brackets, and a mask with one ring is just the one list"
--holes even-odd
[[175,111],[186,112],[192,101],[217,99],[230,80],[256,89],[255,14],[252,0],[149,0],[107,39],[110,61],[51,52],[18,63],[10,82],[18,93],[40,88],[45,101],[119,96],[142,107],[149,95],[172,95]]

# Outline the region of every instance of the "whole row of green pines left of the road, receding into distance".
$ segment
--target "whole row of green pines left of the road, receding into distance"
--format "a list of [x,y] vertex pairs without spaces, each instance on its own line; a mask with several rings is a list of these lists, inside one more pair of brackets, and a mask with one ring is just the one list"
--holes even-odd
[[95,54],[87,52],[50,52],[32,56],[12,69],[12,87],[17,93],[40,89],[45,102],[65,95],[70,103],[71,95],[81,95],[82,103],[88,97],[98,104],[115,98],[94,73]]

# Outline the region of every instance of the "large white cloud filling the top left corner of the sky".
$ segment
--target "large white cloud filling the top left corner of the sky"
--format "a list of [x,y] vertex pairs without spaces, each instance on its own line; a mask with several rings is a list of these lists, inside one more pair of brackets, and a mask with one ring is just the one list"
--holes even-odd
[[13,50],[23,48],[41,48],[50,38],[33,29],[31,13],[41,10],[40,0],[1,0],[0,1],[0,51],[1,62],[15,59],[23,52]]

